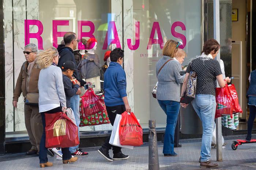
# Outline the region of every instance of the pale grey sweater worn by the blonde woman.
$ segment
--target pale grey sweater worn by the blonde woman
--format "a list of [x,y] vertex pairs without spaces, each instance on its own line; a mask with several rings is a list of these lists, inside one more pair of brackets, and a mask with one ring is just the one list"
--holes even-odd
[[66,106],[66,97],[60,67],[50,65],[42,69],[38,80],[39,106],[43,104],[61,104]]

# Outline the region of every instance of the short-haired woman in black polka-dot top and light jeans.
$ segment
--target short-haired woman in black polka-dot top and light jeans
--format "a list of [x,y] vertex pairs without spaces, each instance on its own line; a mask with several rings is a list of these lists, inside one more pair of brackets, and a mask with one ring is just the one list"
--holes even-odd
[[[223,80],[221,66],[219,62],[214,59],[219,53],[219,49],[220,45],[215,39],[209,39],[204,43],[202,54],[189,63],[181,89],[181,94],[183,94],[187,88],[189,73],[191,71],[196,72],[196,97],[192,100],[192,105],[203,124],[201,157],[199,162],[200,166],[206,167],[218,166],[218,163],[210,161],[212,132],[214,130],[216,110],[216,80],[221,87],[224,87],[227,82],[230,82],[229,77]],[[186,108],[188,104],[181,103],[181,106]]]

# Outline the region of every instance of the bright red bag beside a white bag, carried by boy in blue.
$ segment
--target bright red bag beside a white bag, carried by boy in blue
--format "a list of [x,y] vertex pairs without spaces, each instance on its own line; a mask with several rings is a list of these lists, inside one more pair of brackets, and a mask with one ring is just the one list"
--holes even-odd
[[119,127],[119,140],[121,145],[140,146],[143,144],[142,127],[135,115],[131,113],[122,113],[122,119]]

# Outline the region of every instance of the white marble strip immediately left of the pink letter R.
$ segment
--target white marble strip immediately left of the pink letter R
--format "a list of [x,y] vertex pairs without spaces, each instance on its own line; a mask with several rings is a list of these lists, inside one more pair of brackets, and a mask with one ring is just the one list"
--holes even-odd
[[[24,20],[26,19],[26,0],[13,0],[13,31],[14,31],[14,83],[16,85],[20,68],[26,61],[24,54],[25,32]],[[26,130],[24,121],[24,98],[19,97],[18,107],[15,109],[15,131]]]

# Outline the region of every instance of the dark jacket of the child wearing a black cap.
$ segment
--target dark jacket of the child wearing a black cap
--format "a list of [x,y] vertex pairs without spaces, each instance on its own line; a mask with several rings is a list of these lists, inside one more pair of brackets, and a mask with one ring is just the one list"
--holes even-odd
[[64,91],[65,91],[65,96],[66,96],[66,106],[67,108],[70,107],[70,98],[76,95],[76,92],[79,88],[78,84],[73,84],[68,78],[68,76],[62,74],[62,80],[63,80],[63,85],[64,85]]

